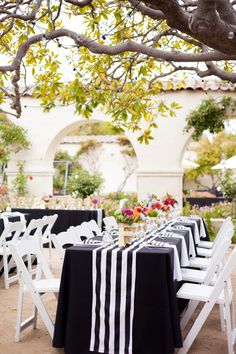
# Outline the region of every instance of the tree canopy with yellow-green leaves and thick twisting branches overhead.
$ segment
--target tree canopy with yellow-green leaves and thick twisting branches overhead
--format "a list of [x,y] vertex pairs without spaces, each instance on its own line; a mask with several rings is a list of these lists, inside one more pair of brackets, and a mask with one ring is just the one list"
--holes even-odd
[[105,108],[147,142],[156,116],[178,107],[153,99],[161,79],[236,82],[236,1],[1,1],[0,52],[0,103],[16,117],[33,87],[45,111],[74,105],[88,118]]

